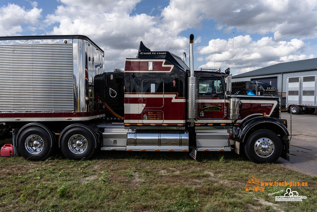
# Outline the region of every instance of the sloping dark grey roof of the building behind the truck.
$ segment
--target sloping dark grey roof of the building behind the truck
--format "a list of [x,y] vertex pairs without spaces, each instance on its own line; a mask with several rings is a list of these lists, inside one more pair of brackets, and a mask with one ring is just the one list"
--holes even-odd
[[275,64],[262,69],[237,74],[232,76],[232,78],[314,70],[317,70],[317,58]]

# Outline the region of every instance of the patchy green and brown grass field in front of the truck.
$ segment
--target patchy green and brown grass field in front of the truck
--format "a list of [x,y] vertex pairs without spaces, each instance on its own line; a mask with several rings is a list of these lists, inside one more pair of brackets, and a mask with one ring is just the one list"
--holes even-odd
[[[275,202],[289,186],[247,192],[252,175],[260,182],[307,182],[291,187],[307,199]],[[0,211],[5,212],[316,211],[316,188],[317,177],[230,152],[199,152],[197,160],[176,152],[99,151],[86,161],[58,152],[41,162],[0,157]]]

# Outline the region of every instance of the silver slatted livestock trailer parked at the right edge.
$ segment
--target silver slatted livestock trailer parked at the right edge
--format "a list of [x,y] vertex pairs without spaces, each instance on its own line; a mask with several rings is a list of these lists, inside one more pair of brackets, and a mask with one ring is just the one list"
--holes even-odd
[[312,114],[317,108],[317,76],[295,76],[286,79],[286,106],[292,114]]

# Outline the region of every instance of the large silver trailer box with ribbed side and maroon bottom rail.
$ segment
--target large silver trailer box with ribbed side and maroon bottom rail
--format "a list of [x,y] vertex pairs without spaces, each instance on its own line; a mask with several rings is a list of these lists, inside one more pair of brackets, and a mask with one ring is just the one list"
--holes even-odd
[[85,36],[0,37],[0,121],[104,116],[94,77],[104,52]]

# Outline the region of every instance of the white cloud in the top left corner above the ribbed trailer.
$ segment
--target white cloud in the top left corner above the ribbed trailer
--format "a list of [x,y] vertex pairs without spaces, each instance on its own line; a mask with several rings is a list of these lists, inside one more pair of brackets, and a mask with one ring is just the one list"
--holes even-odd
[[19,35],[24,31],[24,24],[35,26],[39,23],[41,12],[42,9],[36,7],[25,9],[11,3],[0,7],[0,36]]

